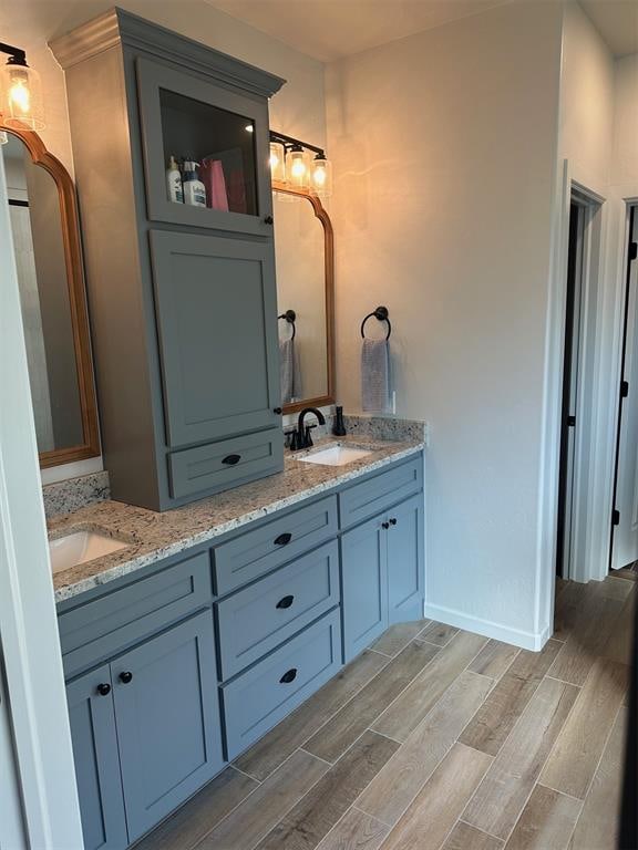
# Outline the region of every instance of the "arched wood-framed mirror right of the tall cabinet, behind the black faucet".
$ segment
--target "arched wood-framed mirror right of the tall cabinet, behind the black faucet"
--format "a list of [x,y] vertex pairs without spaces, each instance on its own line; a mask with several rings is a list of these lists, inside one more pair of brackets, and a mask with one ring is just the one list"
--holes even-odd
[[335,403],[335,237],[316,195],[276,182],[272,193],[281,402],[296,413]]

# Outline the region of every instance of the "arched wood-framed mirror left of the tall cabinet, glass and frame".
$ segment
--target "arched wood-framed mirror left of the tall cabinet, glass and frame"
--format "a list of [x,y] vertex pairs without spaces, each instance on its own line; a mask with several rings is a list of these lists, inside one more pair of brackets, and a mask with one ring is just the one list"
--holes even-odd
[[100,455],[75,188],[33,131],[6,126],[9,190],[40,466]]

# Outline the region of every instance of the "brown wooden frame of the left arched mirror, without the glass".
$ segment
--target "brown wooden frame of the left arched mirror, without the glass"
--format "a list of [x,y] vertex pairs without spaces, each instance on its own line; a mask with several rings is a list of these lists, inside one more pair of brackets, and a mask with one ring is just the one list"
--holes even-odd
[[0,129],[19,138],[31,154],[33,165],[44,168],[58,186],[60,198],[60,224],[64,261],[66,266],[66,283],[69,287],[69,308],[73,328],[73,349],[78,371],[78,391],[80,411],[82,414],[82,434],[84,442],[65,448],[40,452],[40,468],[70,464],[89,457],[99,457],[100,429],[97,425],[97,400],[93,380],[93,362],[91,357],[91,333],[89,330],[89,311],[86,307],[86,289],[84,287],[84,267],[82,263],[82,243],[80,238],[80,219],[75,187],[71,175],[53,154],[50,154],[44,143],[32,129],[7,126],[0,121]]

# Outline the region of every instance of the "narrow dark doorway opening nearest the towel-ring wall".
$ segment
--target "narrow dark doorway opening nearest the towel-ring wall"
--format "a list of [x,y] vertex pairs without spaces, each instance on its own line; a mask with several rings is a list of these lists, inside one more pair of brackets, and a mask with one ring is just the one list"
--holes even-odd
[[572,197],[567,249],[563,402],[560,414],[560,465],[558,474],[558,522],[556,574],[569,578],[573,551],[574,488],[576,469],[576,413],[583,329],[583,270],[586,206]]

